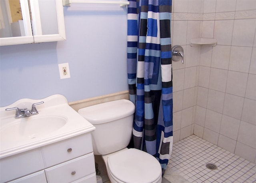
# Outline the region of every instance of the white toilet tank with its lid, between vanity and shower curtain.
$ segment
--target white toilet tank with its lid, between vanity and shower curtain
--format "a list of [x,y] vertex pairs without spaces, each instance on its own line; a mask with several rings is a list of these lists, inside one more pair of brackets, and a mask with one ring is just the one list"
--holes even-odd
[[92,131],[95,155],[105,155],[127,147],[132,137],[134,111],[134,104],[126,99],[78,110],[96,128]]

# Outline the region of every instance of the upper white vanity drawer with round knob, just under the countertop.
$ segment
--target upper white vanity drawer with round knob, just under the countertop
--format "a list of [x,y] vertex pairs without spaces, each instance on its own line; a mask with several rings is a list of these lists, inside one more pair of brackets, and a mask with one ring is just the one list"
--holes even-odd
[[85,133],[42,147],[46,167],[92,152],[91,133]]

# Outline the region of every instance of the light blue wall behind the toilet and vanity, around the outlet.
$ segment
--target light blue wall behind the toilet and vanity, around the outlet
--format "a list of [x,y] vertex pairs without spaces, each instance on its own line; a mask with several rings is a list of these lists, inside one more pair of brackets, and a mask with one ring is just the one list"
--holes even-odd
[[[64,7],[66,41],[0,47],[0,106],[56,93],[69,102],[128,90],[127,10],[118,5]],[[60,79],[58,64],[69,63]]]

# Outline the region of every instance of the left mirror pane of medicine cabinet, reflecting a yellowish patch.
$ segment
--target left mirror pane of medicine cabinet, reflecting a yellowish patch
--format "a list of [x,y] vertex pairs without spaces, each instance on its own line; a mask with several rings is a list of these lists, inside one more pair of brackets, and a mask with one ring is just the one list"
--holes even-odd
[[25,36],[20,0],[0,0],[0,38]]

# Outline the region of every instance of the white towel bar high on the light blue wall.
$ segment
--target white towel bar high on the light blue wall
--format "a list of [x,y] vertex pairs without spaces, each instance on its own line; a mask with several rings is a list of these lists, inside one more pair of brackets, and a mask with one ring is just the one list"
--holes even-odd
[[103,1],[103,0],[62,0],[63,6],[70,6],[71,3],[93,3],[93,4],[120,4],[126,6],[130,4],[128,1]]

